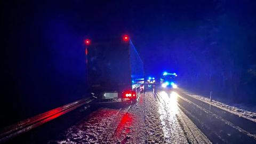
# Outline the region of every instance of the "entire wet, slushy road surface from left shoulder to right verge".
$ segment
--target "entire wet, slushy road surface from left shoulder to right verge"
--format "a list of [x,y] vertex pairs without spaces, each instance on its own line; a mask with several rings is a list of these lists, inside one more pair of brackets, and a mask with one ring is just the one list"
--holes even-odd
[[49,143],[256,143],[255,130],[182,90],[158,90],[132,106],[99,108]]

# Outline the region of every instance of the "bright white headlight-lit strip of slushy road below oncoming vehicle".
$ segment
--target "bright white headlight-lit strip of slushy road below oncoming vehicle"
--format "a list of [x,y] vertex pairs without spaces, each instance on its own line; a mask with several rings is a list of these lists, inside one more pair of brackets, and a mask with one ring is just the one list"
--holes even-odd
[[[195,126],[193,122],[179,109],[176,93],[171,92],[170,96],[166,92],[157,93],[159,101],[166,111],[167,123],[171,123],[167,131],[180,133],[179,135],[169,134],[172,137],[170,143],[211,143],[211,141]],[[167,128],[167,127],[166,127]]]

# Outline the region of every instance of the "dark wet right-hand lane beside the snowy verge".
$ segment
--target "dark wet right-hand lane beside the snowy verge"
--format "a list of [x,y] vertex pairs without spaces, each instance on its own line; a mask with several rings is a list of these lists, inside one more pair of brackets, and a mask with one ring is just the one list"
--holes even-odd
[[213,143],[256,143],[256,123],[179,91],[179,107]]

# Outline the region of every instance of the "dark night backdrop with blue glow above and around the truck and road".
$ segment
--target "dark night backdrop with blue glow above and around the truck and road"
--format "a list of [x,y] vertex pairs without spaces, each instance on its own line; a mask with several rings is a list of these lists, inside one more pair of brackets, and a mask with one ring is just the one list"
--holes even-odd
[[176,71],[184,84],[226,86],[213,86],[220,92],[255,86],[254,1],[1,3],[1,95],[18,117],[17,108],[30,116],[84,95],[87,37],[129,34],[147,75]]

